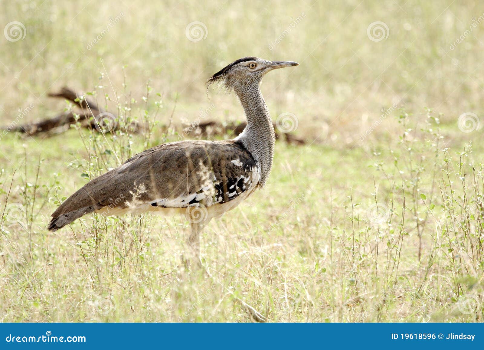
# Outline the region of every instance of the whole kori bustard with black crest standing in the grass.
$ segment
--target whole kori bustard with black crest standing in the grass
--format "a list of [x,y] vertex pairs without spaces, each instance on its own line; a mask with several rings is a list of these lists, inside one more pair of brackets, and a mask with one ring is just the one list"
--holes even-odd
[[121,166],[85,184],[52,214],[55,231],[91,212],[104,215],[182,213],[191,222],[188,243],[200,259],[201,229],[213,217],[235,208],[267,181],[274,154],[274,128],[259,83],[291,61],[244,57],[207,82],[222,83],[239,97],[247,126],[224,141],[179,141],[136,154]]

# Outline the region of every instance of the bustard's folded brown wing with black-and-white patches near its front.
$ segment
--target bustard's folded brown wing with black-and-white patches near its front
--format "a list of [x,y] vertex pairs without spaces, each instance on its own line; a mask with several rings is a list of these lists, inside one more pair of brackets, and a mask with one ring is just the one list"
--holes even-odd
[[183,208],[227,202],[257,185],[255,173],[256,162],[239,141],[167,143],[136,154],[84,185],[52,214],[48,229],[105,207]]

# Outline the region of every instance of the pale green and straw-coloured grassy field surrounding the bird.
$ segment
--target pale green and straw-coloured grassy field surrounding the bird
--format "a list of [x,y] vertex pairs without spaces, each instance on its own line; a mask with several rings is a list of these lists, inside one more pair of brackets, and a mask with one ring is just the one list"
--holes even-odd
[[[64,85],[119,123],[147,126],[0,131],[1,321],[250,321],[234,296],[272,322],[483,321],[477,2],[19,0],[0,9],[0,126],[69,109],[47,96]],[[236,97],[206,93],[205,81],[243,56],[300,63],[261,89],[274,120],[289,116],[280,128],[306,143],[277,142],[266,188],[205,228],[213,278],[181,264],[190,231],[181,216],[87,215],[46,230],[76,189],[178,140],[181,126],[242,121]]]

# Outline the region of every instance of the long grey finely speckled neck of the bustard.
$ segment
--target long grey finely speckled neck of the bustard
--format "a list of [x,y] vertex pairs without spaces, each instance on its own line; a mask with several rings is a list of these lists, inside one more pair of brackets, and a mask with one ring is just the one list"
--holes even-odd
[[247,126],[236,139],[244,146],[261,167],[259,186],[269,177],[274,156],[275,133],[271,114],[257,83],[234,89],[247,118]]

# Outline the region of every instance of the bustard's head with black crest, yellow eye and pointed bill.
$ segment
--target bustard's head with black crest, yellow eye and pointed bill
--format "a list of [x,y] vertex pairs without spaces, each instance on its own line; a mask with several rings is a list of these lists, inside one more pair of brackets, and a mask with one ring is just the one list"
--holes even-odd
[[238,91],[250,85],[258,85],[267,72],[297,65],[299,63],[291,61],[267,61],[257,57],[244,57],[233,61],[227,67],[211,76],[207,81],[207,85],[222,83],[227,90],[234,89]]

